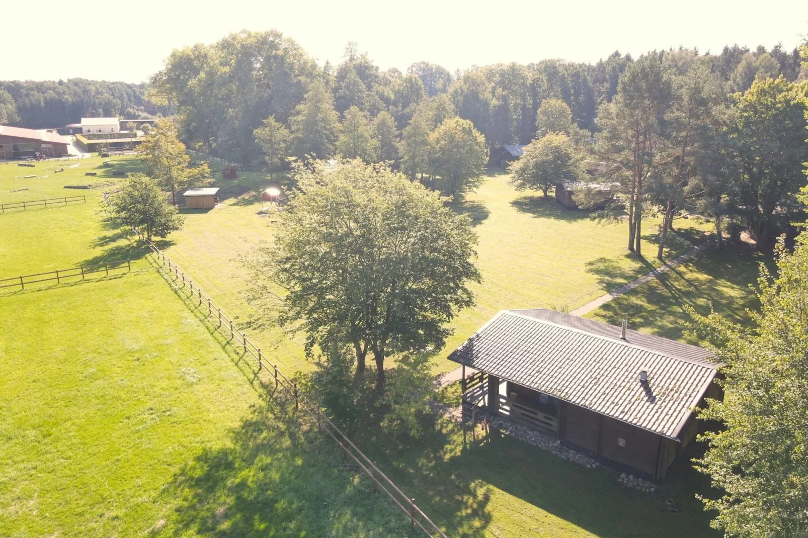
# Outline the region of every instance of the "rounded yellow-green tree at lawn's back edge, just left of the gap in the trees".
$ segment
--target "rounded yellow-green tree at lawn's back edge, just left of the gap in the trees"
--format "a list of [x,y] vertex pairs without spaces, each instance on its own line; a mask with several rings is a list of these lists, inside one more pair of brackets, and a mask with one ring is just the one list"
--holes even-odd
[[478,187],[487,158],[486,140],[469,120],[445,120],[429,135],[429,162],[443,195]]

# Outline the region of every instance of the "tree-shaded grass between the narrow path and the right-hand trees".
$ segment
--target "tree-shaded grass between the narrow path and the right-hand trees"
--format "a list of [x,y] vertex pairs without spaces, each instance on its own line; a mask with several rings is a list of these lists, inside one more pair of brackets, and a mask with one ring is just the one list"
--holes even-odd
[[689,319],[683,305],[705,315],[712,306],[726,319],[746,324],[746,310],[760,306],[749,286],[755,284],[761,262],[773,268],[771,256],[755,253],[746,243],[710,250],[584,317],[614,325],[625,317],[633,330],[677,340],[684,339],[684,322]]

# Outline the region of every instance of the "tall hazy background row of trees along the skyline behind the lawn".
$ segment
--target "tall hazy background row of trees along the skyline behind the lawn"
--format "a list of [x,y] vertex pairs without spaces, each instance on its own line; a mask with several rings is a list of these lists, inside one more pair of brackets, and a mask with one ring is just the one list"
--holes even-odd
[[[697,55],[670,51],[671,61],[687,62],[689,54]],[[747,90],[760,74],[793,81],[800,73],[797,51],[779,45],[768,51],[726,47],[702,57],[733,91]],[[595,65],[545,60],[451,74],[422,61],[405,74],[382,71],[356,44],[348,45],[341,64],[321,67],[280,32],[241,32],[216,44],[175,50],[151,79],[150,91],[154,100],[175,107],[183,139],[206,153],[252,163],[261,151],[251,133],[269,116],[292,128],[296,107],[315,82],[330,95],[340,118],[351,107],[368,118],[385,111],[399,132],[420,103],[442,96],[457,116],[474,124],[488,147],[495,147],[535,138],[537,111],[546,99],[564,101],[579,128],[598,130],[598,108],[617,94],[621,74],[632,63],[632,57],[616,52]]]

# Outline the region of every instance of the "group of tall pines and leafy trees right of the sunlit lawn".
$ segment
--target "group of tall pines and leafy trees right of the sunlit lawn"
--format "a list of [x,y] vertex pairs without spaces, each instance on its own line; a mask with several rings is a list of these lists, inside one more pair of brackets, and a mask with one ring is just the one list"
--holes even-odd
[[626,67],[611,102],[598,108],[591,137],[566,103],[546,100],[537,130],[545,136],[512,167],[514,183],[546,195],[556,183],[579,181],[583,207],[602,204],[604,193],[619,195],[619,205],[595,217],[614,219],[625,205],[629,250],[637,254],[649,212],[663,216],[659,258],[684,212],[713,219],[719,248],[732,220],[768,249],[799,211],[808,161],[808,82],[769,74],[761,70],[746,91],[731,92],[710,57],[646,54]]

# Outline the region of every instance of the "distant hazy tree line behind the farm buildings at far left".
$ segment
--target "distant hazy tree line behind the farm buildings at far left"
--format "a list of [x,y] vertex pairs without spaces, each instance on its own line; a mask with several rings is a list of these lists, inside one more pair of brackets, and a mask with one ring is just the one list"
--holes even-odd
[[146,82],[107,82],[69,78],[59,81],[0,81],[0,125],[54,128],[82,117],[127,119],[165,116],[166,107],[145,98]]

